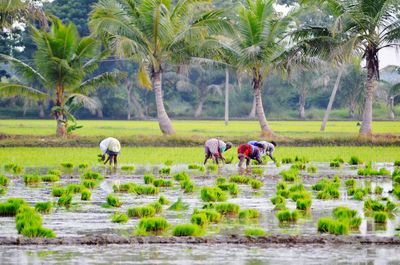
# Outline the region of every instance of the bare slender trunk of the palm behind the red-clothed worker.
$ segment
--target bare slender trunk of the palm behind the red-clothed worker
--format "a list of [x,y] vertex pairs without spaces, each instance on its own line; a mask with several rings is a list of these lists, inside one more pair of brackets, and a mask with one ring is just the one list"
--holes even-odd
[[259,71],[257,71],[257,69],[253,69],[253,89],[254,96],[256,98],[256,114],[261,127],[261,136],[272,137],[274,133],[268,126],[267,119],[265,118],[264,107],[262,104],[261,80],[262,77]]

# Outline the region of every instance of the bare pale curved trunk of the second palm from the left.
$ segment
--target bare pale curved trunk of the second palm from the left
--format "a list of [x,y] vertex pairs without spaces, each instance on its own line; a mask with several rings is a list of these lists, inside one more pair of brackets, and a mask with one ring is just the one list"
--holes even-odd
[[160,130],[163,134],[175,134],[175,130],[172,127],[171,120],[169,119],[168,114],[165,111],[161,78],[161,71],[155,71],[153,73],[153,89],[156,97],[158,125],[160,126]]

